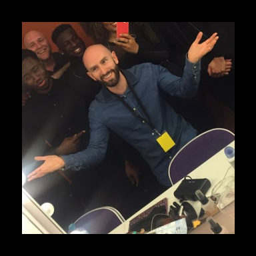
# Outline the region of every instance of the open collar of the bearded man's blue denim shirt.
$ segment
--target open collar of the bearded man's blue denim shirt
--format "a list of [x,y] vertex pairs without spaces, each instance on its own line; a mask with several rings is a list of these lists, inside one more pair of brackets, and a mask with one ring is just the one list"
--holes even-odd
[[[123,73],[123,75],[125,76],[125,78],[127,79],[129,85],[135,87],[135,85],[139,82],[139,79],[130,71],[128,70],[121,70],[121,73]],[[103,101],[105,103],[107,103],[108,101],[110,101],[111,99],[116,99],[114,95],[112,95],[109,90],[103,86],[101,89],[101,92],[99,93],[99,95],[97,95],[97,99],[99,101]]]

